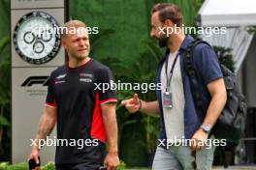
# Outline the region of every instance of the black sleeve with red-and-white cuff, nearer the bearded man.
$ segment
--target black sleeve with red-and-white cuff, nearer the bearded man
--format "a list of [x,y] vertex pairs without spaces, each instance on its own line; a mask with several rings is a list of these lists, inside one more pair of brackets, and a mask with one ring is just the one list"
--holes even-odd
[[97,90],[99,93],[100,103],[104,104],[110,101],[116,102],[115,83],[112,75],[112,71],[109,68],[100,69],[98,72],[97,84],[101,88]]

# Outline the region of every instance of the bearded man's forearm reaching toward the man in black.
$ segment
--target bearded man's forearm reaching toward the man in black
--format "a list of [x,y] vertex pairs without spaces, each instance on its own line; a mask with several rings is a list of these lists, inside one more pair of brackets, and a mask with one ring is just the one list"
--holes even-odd
[[158,101],[155,100],[155,101],[144,101],[144,100],[141,100],[141,109],[140,111],[147,114],[147,115],[150,115],[150,116],[158,116],[159,115],[159,104],[158,104]]

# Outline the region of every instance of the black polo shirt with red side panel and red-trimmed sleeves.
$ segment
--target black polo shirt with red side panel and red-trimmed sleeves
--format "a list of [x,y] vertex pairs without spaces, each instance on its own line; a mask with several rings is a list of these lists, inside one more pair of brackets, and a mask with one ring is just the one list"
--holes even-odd
[[[111,81],[112,71],[92,59],[79,68],[64,65],[51,72],[46,105],[57,110],[56,163],[103,160],[106,130],[100,105],[116,98],[113,90],[100,90],[95,83]],[[74,143],[81,139],[82,148]]]

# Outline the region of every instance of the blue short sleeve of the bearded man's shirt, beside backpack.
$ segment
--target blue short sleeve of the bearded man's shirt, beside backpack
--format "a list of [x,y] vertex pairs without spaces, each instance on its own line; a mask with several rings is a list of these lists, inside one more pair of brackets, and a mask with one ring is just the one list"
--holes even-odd
[[213,49],[207,44],[201,43],[194,51],[194,64],[204,84],[223,77],[218,58]]

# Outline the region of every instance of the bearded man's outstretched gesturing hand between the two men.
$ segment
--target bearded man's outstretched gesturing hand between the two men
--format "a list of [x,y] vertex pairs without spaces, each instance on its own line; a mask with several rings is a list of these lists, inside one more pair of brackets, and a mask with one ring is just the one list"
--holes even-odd
[[125,105],[126,109],[130,113],[135,113],[135,112],[139,111],[139,109],[141,107],[141,102],[140,102],[140,99],[138,98],[137,94],[134,94],[134,97],[132,99],[122,100],[121,104]]

